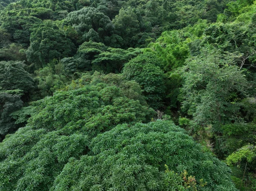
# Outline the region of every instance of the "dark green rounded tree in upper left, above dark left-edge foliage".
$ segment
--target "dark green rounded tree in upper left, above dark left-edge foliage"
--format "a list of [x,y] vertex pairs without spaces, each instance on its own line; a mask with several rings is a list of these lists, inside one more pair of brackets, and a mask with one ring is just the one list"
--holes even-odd
[[74,51],[71,40],[52,21],[47,20],[32,32],[27,58],[38,69],[47,66],[53,59],[69,57]]

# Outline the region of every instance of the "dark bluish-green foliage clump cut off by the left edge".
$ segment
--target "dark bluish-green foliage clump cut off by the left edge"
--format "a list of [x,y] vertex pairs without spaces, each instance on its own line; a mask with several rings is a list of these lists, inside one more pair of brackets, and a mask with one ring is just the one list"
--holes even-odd
[[29,100],[29,93],[34,89],[34,80],[25,71],[20,61],[0,62],[0,136],[17,129],[12,112]]

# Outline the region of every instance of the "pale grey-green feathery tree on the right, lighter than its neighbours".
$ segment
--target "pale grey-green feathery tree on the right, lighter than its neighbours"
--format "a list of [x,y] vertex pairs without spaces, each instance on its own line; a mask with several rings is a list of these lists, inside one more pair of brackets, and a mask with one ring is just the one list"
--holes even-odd
[[200,125],[239,121],[239,99],[246,97],[248,86],[243,71],[235,64],[234,54],[204,51],[186,60],[182,104]]

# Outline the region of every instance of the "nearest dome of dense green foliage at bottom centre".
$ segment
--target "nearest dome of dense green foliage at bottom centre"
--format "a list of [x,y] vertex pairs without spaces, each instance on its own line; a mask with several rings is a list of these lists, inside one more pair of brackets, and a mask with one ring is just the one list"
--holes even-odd
[[195,189],[236,190],[229,168],[169,121],[118,125],[95,137],[89,148],[90,153],[79,160],[70,159],[50,190],[192,190],[177,176],[184,170],[195,175],[194,183],[203,179]]

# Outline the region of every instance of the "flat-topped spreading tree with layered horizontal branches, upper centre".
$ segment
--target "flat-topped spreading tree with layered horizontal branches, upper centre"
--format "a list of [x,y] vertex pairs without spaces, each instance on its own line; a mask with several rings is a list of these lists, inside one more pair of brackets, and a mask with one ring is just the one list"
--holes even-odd
[[61,63],[67,75],[91,70],[118,74],[125,63],[137,57],[142,51],[140,48],[111,48],[103,43],[89,41],[79,46],[74,57],[64,58]]

